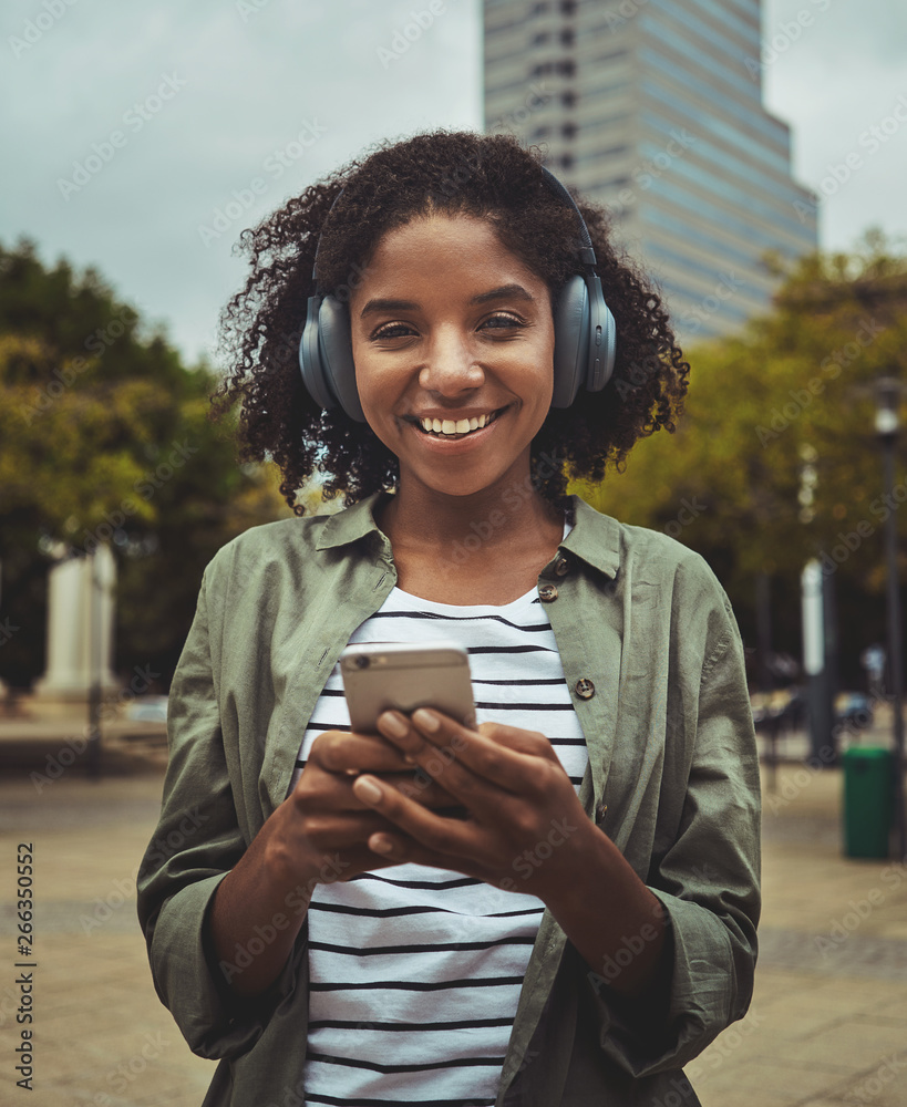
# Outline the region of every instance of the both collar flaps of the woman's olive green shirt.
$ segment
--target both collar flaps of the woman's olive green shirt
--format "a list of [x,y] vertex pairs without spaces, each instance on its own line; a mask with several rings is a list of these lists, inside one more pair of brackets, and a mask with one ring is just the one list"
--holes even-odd
[[[353,504],[342,511],[328,517],[318,541],[318,549],[332,549],[358,541],[373,531],[386,537],[374,519],[375,508],[382,497],[390,493],[378,492]],[[574,508],[574,528],[561,541],[560,548],[568,550],[592,568],[616,577],[620,567],[620,526],[608,515],[597,511],[579,496],[569,497]]]

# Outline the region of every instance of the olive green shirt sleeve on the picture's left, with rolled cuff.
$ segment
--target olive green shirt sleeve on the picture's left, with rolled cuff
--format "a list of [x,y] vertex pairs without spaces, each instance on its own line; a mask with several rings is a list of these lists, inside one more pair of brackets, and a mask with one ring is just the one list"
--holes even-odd
[[258,1041],[296,986],[299,953],[268,992],[240,1004],[205,941],[217,886],[247,847],[221,735],[207,576],[171,687],[161,819],[138,870],[137,891],[157,994],[193,1052],[216,1059],[238,1056]]

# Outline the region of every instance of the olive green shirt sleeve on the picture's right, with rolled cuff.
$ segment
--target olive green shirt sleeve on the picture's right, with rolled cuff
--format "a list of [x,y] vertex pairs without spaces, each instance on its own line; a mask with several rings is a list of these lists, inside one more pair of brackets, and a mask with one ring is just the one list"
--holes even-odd
[[641,1003],[589,981],[600,1045],[636,1077],[689,1063],[743,1017],[752,997],[761,903],[759,759],[743,648],[726,598],[719,621],[723,633],[702,665],[680,824],[647,880],[669,923],[664,979]]

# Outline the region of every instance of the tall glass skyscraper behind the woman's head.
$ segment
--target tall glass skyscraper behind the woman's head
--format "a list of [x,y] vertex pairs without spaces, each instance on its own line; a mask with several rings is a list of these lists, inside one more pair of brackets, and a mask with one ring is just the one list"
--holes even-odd
[[486,131],[608,206],[681,337],[763,312],[764,258],[815,250],[816,206],[762,106],[760,0],[485,0],[484,21]]

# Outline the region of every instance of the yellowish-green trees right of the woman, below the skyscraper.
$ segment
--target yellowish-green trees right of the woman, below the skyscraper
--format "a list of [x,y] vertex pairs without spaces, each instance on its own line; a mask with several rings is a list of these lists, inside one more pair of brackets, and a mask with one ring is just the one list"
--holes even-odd
[[[907,257],[870,234],[853,255],[804,259],[770,315],[739,338],[693,350],[690,362],[677,434],[638,444],[623,474],[584,495],[703,554],[749,644],[755,577],[769,575],[775,649],[795,656],[797,580],[803,565],[824,554],[849,651],[846,675],[859,680],[859,650],[884,640],[889,508],[874,432],[875,382],[907,377]],[[814,498],[804,505],[810,467]],[[895,483],[907,496],[900,467]],[[897,520],[907,537],[907,510]]]

